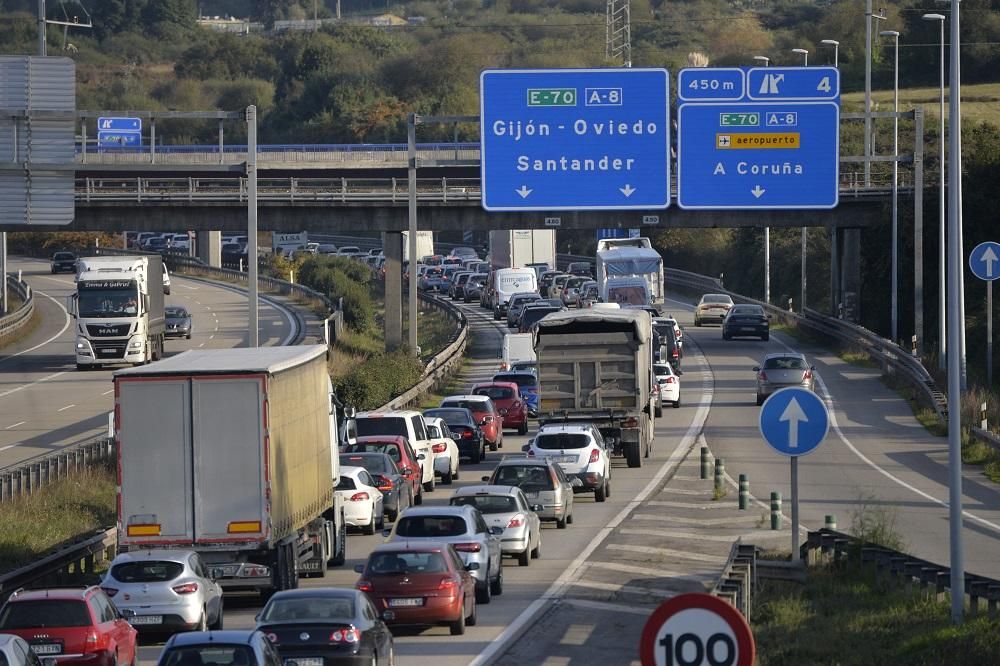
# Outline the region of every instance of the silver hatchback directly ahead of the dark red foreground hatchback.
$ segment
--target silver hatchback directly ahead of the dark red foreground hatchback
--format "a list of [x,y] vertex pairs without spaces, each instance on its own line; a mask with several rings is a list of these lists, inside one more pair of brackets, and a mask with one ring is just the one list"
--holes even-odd
[[493,595],[503,594],[503,560],[500,534],[491,530],[478,509],[471,506],[439,506],[407,509],[391,530],[383,534],[389,541],[442,541],[451,544],[462,561],[476,563],[470,569],[476,579],[476,601],[488,604]]

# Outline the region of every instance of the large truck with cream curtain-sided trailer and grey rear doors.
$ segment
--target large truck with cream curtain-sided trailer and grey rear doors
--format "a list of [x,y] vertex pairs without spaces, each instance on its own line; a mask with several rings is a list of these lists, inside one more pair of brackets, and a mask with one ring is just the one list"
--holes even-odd
[[119,370],[119,550],[190,548],[269,597],[346,558],[325,345],[198,349]]

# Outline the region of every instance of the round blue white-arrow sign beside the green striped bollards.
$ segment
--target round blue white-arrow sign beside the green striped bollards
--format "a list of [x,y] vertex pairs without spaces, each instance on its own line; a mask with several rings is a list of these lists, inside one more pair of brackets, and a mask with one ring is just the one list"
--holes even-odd
[[760,409],[760,434],[782,455],[812,453],[829,429],[826,404],[808,389],[793,387],[776,391]]

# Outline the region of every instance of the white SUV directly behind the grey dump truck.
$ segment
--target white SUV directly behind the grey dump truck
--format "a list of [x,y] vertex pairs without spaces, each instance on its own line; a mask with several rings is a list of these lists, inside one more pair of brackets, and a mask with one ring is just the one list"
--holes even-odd
[[546,424],[524,446],[529,456],[557,463],[574,493],[594,493],[603,502],[611,495],[611,458],[601,432],[589,423]]

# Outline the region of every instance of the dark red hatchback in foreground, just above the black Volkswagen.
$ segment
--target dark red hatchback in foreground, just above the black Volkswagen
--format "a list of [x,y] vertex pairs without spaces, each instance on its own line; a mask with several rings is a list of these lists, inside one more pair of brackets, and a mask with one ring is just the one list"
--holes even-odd
[[387,624],[447,624],[452,636],[476,624],[476,579],[451,544],[421,541],[376,546],[355,587],[375,602]]

